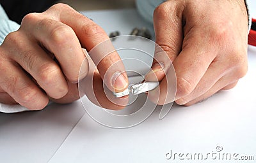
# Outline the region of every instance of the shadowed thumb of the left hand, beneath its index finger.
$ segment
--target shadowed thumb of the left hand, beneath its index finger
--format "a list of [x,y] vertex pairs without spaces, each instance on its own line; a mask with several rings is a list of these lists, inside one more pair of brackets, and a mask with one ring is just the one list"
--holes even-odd
[[[103,83],[100,78],[99,71],[97,71],[97,67],[95,67],[90,57],[88,57],[88,60],[90,63],[90,71],[83,80],[79,81],[78,84],[80,89],[78,90],[78,84],[68,82],[68,93],[60,99],[53,99],[49,97],[51,101],[56,103],[71,103],[86,94],[88,99],[97,106],[108,108],[110,110],[121,110],[124,108],[128,103],[128,98],[116,98],[113,96],[112,92],[108,89],[104,89],[102,87]],[[108,97],[106,94],[108,94]]]

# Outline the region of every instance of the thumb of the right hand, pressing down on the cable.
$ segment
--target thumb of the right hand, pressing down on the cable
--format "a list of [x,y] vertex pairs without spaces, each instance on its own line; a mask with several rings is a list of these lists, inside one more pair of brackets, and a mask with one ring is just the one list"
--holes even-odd
[[[181,50],[182,32],[182,5],[176,2],[160,4],[154,11],[154,30],[156,34],[156,50],[152,71],[147,75],[148,80],[154,78],[152,73],[156,73],[157,79],[164,78],[165,71],[177,57]],[[177,6],[180,6],[177,8]],[[152,79],[151,79],[152,80]]]

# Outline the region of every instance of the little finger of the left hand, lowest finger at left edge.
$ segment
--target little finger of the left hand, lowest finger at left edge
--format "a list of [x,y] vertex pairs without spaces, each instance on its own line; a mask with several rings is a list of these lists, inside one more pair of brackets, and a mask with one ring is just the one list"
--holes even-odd
[[17,103],[29,110],[42,110],[48,104],[48,97],[31,81],[15,63],[0,64],[1,88]]

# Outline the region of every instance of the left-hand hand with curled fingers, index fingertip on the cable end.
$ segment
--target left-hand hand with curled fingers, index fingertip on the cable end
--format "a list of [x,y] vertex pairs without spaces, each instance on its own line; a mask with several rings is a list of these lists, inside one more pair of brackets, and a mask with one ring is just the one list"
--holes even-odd
[[[26,15],[20,29],[8,34],[0,46],[0,102],[41,110],[49,99],[75,101],[77,82],[90,68],[82,48],[90,51],[106,39],[99,25],[66,4]],[[113,49],[111,43],[108,48]],[[91,57],[108,89],[121,92],[128,86],[124,65],[118,53],[105,54]]]

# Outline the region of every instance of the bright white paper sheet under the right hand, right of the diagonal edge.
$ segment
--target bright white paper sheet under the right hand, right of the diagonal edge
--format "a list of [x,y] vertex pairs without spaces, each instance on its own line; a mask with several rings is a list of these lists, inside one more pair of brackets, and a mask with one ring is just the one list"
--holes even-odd
[[[107,32],[124,29],[122,32],[126,34],[141,25],[134,12],[99,11],[86,15]],[[175,160],[173,156],[168,160],[168,153],[204,156],[238,153],[239,157],[251,155],[256,159],[256,51],[253,49],[250,47],[248,53],[248,74],[234,89],[221,91],[193,106],[175,105],[163,120],[159,120],[160,110],[155,110],[145,122],[128,129],[104,127],[86,113],[50,162],[239,162],[211,157],[180,160],[177,155]],[[86,97],[83,101],[86,107],[95,107]]]

